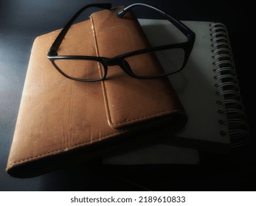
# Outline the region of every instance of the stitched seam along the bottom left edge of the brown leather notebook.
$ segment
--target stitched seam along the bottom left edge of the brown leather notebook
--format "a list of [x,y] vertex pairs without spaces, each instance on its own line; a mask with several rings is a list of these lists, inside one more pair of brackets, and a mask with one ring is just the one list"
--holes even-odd
[[[123,133],[123,132],[125,132],[125,131],[122,131],[122,132],[114,132],[114,133],[105,135],[105,136],[100,137],[100,138],[108,138],[108,137],[111,136],[111,135],[117,135],[117,134],[120,134],[120,133]],[[97,141],[98,139],[99,139],[99,138],[97,138],[97,139],[95,139],[95,140],[93,140],[93,141],[86,141],[86,142],[83,142],[83,143],[78,143],[78,144],[76,144],[76,145],[69,146],[69,147],[67,147],[66,149],[75,149],[75,148],[77,148],[77,147],[79,147],[79,146],[83,146],[84,144],[87,144],[87,143],[89,143],[89,142],[94,143],[94,141]],[[46,156],[46,155],[54,154],[54,153],[56,153],[56,152],[66,151],[66,149],[57,149],[57,150],[54,150],[54,151],[52,151],[52,152],[46,152],[46,153],[44,153],[44,154],[39,154],[39,155],[34,156],[34,157],[29,157],[29,158],[24,159],[24,160],[18,160],[18,161],[15,161],[14,163],[10,163],[10,166],[9,166],[8,168],[11,168],[14,164],[17,164],[17,163],[23,163],[23,162],[25,162],[25,161],[27,161],[27,160],[35,160],[35,159],[38,158],[38,157],[44,157],[44,156]]]

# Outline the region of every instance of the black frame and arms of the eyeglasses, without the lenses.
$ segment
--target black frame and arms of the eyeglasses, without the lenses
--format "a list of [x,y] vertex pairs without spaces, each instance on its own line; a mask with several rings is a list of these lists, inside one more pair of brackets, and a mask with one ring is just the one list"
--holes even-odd
[[[60,34],[58,37],[55,39],[55,41],[52,43],[52,46],[49,49],[49,52],[47,54],[48,59],[52,62],[52,64],[55,66],[55,68],[60,72],[60,74],[63,74],[64,77],[67,77],[72,80],[80,81],[80,82],[97,82],[104,80],[106,78],[106,75],[108,73],[108,65],[119,65],[120,68],[122,68],[123,71],[125,71],[126,74],[128,74],[131,77],[137,78],[137,79],[153,79],[153,78],[158,78],[158,77],[165,77],[170,74],[175,74],[178,71],[181,71],[184,66],[187,64],[187,60],[190,56],[190,52],[193,49],[193,44],[196,39],[195,33],[189,29],[187,26],[185,26],[181,21],[176,20],[170,15],[167,15],[164,13],[162,10],[157,9],[156,7],[152,7],[151,5],[148,4],[142,4],[142,3],[136,3],[136,4],[131,4],[128,7],[125,7],[124,9],[121,9],[117,12],[117,17],[122,18],[125,13],[127,13],[129,10],[131,10],[132,7],[136,6],[143,6],[143,7],[148,7],[152,10],[155,10],[156,12],[162,14],[167,18],[170,23],[172,23],[174,26],[176,26],[177,29],[179,29],[186,37],[187,37],[187,42],[184,43],[173,43],[173,44],[167,44],[164,46],[154,46],[150,47],[147,49],[139,49],[136,51],[131,51],[125,54],[120,54],[117,55],[116,57],[94,57],[94,56],[77,56],[77,55],[61,55],[58,56],[58,49],[60,47],[60,44],[62,43],[66,33],[69,31],[69,28],[72,26],[74,21],[77,19],[77,17],[83,13],[84,10],[88,9],[89,7],[98,7],[102,8],[105,10],[111,10],[111,4],[89,4],[86,5],[85,7],[81,8],[66,24],[66,26],[63,27],[63,29],[60,31]],[[127,57],[132,57],[137,54],[143,54],[143,53],[148,53],[151,51],[160,51],[160,50],[165,50],[165,49],[184,49],[185,54],[184,54],[184,62],[181,65],[181,67],[176,70],[172,71],[166,74],[160,74],[158,76],[138,76],[134,74],[131,71],[131,68],[129,67],[128,63],[125,61],[125,58]],[[55,64],[55,60],[94,60],[103,65],[104,69],[104,74],[103,77],[100,77],[99,79],[79,79],[75,77],[70,77],[69,75],[65,74],[60,68],[58,68],[58,65]]]

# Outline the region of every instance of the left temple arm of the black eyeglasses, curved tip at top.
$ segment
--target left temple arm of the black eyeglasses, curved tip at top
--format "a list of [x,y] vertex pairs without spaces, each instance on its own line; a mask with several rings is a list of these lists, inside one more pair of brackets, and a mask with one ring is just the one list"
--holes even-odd
[[99,7],[105,10],[111,9],[111,4],[89,4],[85,7],[81,8],[70,20],[69,22],[63,27],[58,37],[55,39],[55,41],[52,43],[51,48],[49,49],[49,56],[57,56],[58,49],[60,47],[60,43],[63,41],[63,38],[65,37],[66,33],[69,31],[69,28],[72,26],[74,21],[77,19],[77,17],[83,13],[84,10],[88,9],[89,7]]

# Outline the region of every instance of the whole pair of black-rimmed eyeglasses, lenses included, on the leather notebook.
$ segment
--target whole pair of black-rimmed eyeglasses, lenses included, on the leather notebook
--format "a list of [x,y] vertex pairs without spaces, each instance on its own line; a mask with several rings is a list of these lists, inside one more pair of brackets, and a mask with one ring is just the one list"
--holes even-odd
[[[184,43],[171,43],[163,46],[154,46],[147,49],[139,49],[111,58],[58,55],[58,49],[66,33],[69,31],[69,28],[72,26],[77,17],[81,13],[83,13],[83,11],[85,11],[89,7],[98,7],[105,10],[111,10],[111,4],[89,4],[81,8],[60,31],[60,34],[52,43],[52,46],[49,49],[47,55],[48,59],[52,62],[52,64],[60,72],[60,74],[63,74],[64,77],[80,82],[97,82],[106,79],[108,66],[110,65],[119,65],[126,74],[138,79],[153,79],[157,77],[165,77],[167,75],[175,74],[176,72],[181,71],[181,69],[183,69],[186,65],[188,57],[190,56],[190,52],[193,49],[193,43],[196,38],[195,33],[187,26],[182,24],[181,21],[176,20],[172,16],[164,13],[162,10],[159,10],[156,7],[152,7],[148,4],[131,4],[130,6],[119,10],[116,14],[117,18],[122,18],[122,16],[125,15],[125,13],[127,13],[129,10],[139,6],[146,7],[165,17],[167,21],[170,21],[170,23],[176,26],[176,28],[179,29],[179,31],[183,35],[185,35],[187,41]],[[156,57],[159,57],[158,53],[161,54],[163,51],[167,52],[168,59],[169,57],[173,57],[173,60],[171,60],[171,65],[168,66],[169,70],[158,71],[158,73],[147,73],[145,69],[139,68],[139,64],[136,64],[137,61],[143,61],[143,59],[145,57],[148,57],[148,55],[156,55]],[[99,65],[101,68],[100,74],[95,75],[95,68],[99,68]],[[76,74],[70,72],[73,68],[79,72],[76,72]]]

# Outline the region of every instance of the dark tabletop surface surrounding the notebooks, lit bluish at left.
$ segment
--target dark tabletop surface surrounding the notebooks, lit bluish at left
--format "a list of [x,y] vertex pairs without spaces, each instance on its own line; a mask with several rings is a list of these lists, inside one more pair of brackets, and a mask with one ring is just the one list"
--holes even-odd
[[[201,152],[199,166],[84,164],[24,180],[6,174],[33,40],[61,28],[80,7],[95,2],[0,0],[0,191],[255,191],[255,16],[249,1],[140,1],[180,20],[227,26],[251,132],[249,145],[228,155]],[[100,2],[117,6],[136,1]]]

